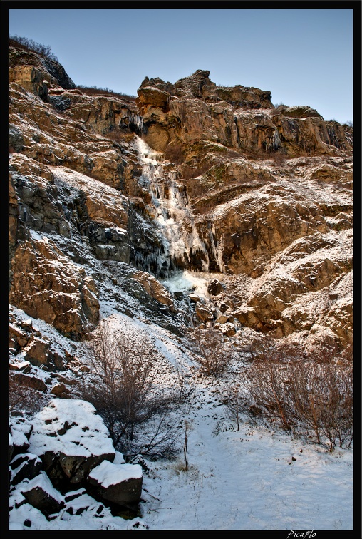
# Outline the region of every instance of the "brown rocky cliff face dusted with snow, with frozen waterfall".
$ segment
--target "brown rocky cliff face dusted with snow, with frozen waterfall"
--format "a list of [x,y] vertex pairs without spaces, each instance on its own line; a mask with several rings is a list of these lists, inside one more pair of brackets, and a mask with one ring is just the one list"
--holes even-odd
[[[16,313],[71,343],[105,299],[177,334],[222,327],[226,306],[230,335],[351,344],[350,126],[217,86],[208,71],[146,77],[133,102],[82,93],[36,53],[11,47],[10,58],[13,356],[31,359]],[[199,302],[172,294],[184,270],[222,288]]]

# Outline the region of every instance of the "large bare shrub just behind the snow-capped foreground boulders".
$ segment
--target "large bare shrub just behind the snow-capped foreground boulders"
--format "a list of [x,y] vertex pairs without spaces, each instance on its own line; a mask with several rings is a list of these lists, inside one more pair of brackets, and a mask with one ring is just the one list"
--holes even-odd
[[92,371],[79,391],[102,416],[115,448],[125,458],[174,453],[180,435],[170,414],[179,399],[155,384],[160,354],[148,335],[132,334],[125,327],[115,334],[100,322],[86,351]]

